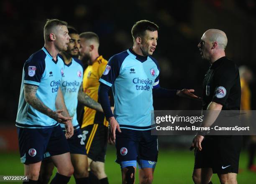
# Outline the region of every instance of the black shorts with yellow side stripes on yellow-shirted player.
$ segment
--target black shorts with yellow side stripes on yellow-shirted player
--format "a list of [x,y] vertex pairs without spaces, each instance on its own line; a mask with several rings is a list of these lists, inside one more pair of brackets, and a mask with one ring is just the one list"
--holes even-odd
[[108,144],[108,127],[103,124],[85,126],[82,130],[87,156],[93,161],[105,162]]

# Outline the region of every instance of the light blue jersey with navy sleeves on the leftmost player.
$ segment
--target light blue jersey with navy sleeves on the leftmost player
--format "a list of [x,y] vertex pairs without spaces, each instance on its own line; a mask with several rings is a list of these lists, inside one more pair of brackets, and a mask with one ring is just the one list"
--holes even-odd
[[59,124],[26,102],[24,84],[38,86],[36,97],[44,105],[55,111],[55,100],[63,74],[63,60],[58,55],[55,61],[45,47],[26,60],[22,73],[16,126],[21,128],[48,128]]

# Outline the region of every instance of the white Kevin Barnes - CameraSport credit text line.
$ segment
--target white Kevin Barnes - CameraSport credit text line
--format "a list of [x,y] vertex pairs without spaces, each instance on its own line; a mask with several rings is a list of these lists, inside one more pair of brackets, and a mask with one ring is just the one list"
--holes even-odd
[[217,130],[217,131],[249,131],[250,127],[240,127],[240,126],[234,126],[234,127],[220,127],[220,126],[214,126],[214,127],[197,127],[197,126],[166,126],[166,127],[161,127],[161,126],[156,126],[156,130],[196,130],[196,131],[207,131],[207,130]]

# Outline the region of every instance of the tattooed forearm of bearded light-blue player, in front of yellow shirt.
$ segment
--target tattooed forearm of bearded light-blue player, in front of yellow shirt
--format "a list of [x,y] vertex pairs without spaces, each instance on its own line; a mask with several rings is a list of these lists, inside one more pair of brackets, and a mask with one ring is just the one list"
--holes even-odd
[[90,96],[88,96],[86,93],[83,92],[82,83],[80,85],[79,92],[78,92],[78,101],[82,103],[84,106],[95,109],[96,111],[103,112],[100,103],[93,100]]

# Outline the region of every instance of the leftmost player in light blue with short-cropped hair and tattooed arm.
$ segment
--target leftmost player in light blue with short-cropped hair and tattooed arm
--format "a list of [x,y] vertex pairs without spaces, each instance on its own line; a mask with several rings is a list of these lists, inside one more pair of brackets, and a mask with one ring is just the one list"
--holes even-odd
[[58,170],[51,184],[67,184],[74,172],[69,146],[59,125],[65,124],[66,136],[71,138],[72,118],[59,88],[64,63],[58,55],[67,50],[69,39],[66,22],[47,20],[44,47],[33,53],[23,67],[16,126],[20,161],[24,163],[25,175],[29,176],[29,181],[24,182],[27,184],[37,183],[45,155],[51,156]]

